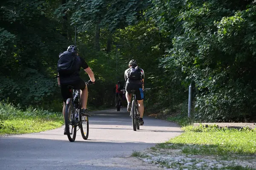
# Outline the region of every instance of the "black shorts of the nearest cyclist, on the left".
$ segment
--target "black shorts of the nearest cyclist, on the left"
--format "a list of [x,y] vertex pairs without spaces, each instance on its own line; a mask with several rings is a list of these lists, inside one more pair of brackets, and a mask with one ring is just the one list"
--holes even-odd
[[84,90],[84,88],[86,87],[84,80],[82,80],[81,78],[79,78],[74,82],[62,83],[61,96],[64,102],[66,102],[68,98],[73,98],[73,93],[72,91],[70,91],[70,88],[68,87],[69,85],[73,86],[74,89],[77,89],[77,90]]

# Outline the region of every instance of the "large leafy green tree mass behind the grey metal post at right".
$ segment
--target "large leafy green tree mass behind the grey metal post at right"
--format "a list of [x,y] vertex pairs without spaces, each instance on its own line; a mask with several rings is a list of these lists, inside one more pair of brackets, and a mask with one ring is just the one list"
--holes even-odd
[[[196,119],[220,122],[255,119],[252,116],[256,101],[252,43],[255,20],[251,17],[255,4],[222,3],[189,0],[172,6],[174,1],[155,1],[155,5],[165,6],[161,11],[164,19],[156,23],[163,27],[163,32],[174,34],[173,47],[167,50],[161,66],[167,71],[176,68],[186,88],[191,81],[195,83]],[[176,17],[167,17],[167,11],[175,12]],[[180,29],[164,27],[168,23]]]

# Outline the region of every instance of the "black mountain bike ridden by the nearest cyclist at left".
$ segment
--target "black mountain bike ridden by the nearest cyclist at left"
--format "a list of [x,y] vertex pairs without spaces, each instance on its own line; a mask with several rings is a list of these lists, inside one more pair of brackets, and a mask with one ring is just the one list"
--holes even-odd
[[[85,82],[89,84],[89,82]],[[74,89],[73,86],[68,86],[73,91],[73,98],[67,99],[66,111],[65,111],[65,128],[67,132],[67,138],[70,142],[74,142],[76,139],[76,128],[80,128],[81,135],[84,140],[88,139],[89,136],[89,120],[88,116],[81,115],[81,99],[80,90]],[[78,129],[79,130],[79,129]]]

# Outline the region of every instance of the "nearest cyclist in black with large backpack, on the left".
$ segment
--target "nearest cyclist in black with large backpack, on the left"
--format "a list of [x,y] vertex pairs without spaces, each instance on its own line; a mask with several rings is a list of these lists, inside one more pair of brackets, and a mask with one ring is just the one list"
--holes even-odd
[[[82,57],[78,55],[78,48],[75,45],[70,45],[67,51],[59,54],[59,60],[57,65],[58,71],[58,85],[61,86],[61,95],[63,97],[63,116],[65,117],[66,102],[68,98],[73,98],[73,93],[68,86],[73,86],[75,89],[81,90],[81,115],[87,115],[87,99],[88,89],[84,80],[79,77],[80,68],[89,75],[89,83],[95,83],[93,71],[87,65]],[[64,129],[64,135],[66,135],[66,129]]]

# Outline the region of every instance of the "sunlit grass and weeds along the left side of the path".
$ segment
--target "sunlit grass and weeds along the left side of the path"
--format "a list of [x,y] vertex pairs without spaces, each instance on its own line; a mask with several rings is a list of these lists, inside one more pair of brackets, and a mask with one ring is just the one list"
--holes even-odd
[[34,108],[21,111],[11,104],[0,103],[0,135],[41,132],[63,124],[62,113]]

